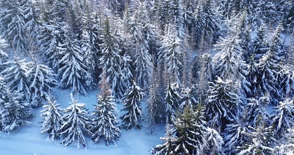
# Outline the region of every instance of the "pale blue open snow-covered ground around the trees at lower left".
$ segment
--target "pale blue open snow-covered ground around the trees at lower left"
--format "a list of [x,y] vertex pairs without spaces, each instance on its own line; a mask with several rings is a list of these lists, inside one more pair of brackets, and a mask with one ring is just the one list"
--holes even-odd
[[[96,94],[99,90],[88,92],[88,97],[76,96],[80,103],[86,103],[89,111],[92,111],[93,104],[96,104]],[[67,90],[56,89],[57,102],[62,108],[69,105],[69,92]],[[143,109],[146,105],[143,102]],[[118,104],[118,110],[122,108],[122,104]],[[5,135],[0,133],[0,155],[150,155],[150,148],[160,144],[159,137],[164,134],[164,124],[155,126],[155,134],[148,133],[146,124],[141,130],[122,130],[121,139],[117,142],[117,146],[105,146],[104,141],[99,144],[93,144],[88,139],[88,149],[77,149],[76,144],[72,144],[66,148],[57,144],[59,141],[52,142],[46,139],[47,135],[40,134],[41,117],[40,110],[42,107],[33,110],[35,117],[31,120],[31,124],[21,127],[20,130],[13,134]],[[144,112],[146,114],[146,111]],[[119,113],[119,116],[123,113]],[[146,117],[145,117],[146,118]],[[147,120],[147,119],[146,119]]]

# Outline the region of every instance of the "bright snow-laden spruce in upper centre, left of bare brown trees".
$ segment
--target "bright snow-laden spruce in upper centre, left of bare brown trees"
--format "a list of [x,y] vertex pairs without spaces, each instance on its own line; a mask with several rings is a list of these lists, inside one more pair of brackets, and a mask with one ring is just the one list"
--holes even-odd
[[164,72],[172,82],[180,82],[180,68],[184,57],[180,42],[181,40],[176,36],[175,26],[169,24],[161,41],[162,51],[159,53],[158,62],[164,66]]

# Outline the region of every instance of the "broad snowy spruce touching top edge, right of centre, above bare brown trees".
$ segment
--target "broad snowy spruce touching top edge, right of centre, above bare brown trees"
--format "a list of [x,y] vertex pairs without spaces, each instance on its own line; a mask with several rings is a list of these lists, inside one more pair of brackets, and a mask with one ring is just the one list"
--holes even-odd
[[[219,30],[219,16],[214,0],[198,0],[194,10],[193,34],[195,42],[199,42],[198,47],[210,47],[217,38]],[[207,48],[207,47],[206,47]]]

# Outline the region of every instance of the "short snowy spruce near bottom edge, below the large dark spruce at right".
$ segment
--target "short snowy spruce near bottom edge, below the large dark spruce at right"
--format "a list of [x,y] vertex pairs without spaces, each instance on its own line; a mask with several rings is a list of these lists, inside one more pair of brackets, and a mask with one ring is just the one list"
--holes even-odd
[[248,141],[248,128],[238,121],[228,124],[224,130],[224,153],[236,155],[238,147],[243,147]]

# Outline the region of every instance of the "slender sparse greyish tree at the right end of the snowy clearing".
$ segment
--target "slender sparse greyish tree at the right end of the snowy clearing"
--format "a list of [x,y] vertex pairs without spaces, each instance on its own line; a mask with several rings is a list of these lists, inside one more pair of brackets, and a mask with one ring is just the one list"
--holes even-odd
[[[154,74],[154,72],[153,72]],[[159,80],[152,76],[151,85],[149,87],[147,109],[148,109],[148,127],[153,134],[153,125],[164,122],[164,104],[159,92]],[[158,76],[157,76],[158,77]]]

